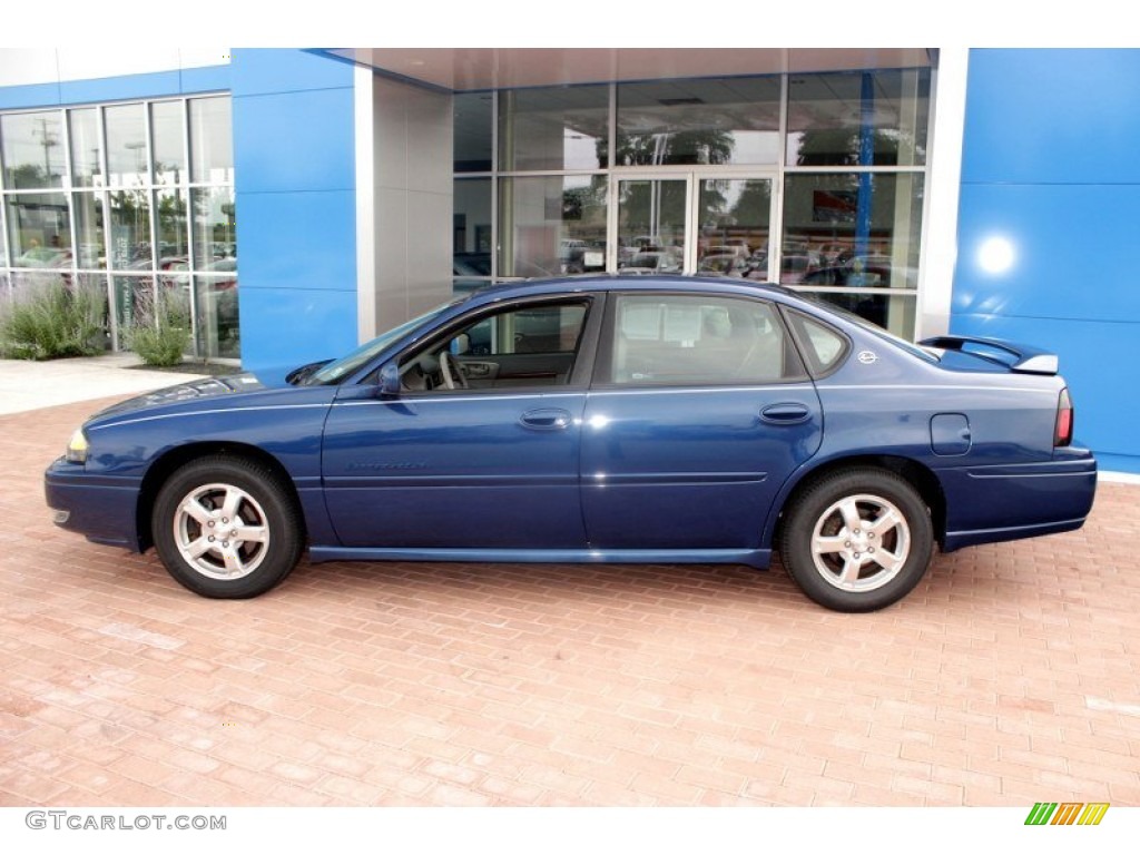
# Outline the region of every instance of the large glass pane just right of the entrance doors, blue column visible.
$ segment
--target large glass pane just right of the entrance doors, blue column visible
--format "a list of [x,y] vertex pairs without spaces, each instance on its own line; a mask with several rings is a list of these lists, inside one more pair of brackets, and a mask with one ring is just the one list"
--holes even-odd
[[780,282],[918,287],[921,174],[789,174]]

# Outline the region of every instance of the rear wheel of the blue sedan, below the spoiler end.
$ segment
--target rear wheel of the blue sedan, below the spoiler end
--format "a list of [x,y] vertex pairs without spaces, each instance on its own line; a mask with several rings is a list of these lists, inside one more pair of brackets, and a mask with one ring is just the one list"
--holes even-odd
[[934,526],[905,479],[885,470],[842,470],[796,499],[780,551],[815,602],[836,611],[874,611],[919,584],[934,552]]

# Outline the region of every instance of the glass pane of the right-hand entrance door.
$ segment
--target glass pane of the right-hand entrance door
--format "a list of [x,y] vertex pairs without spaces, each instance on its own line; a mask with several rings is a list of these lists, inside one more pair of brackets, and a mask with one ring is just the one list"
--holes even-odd
[[767,279],[772,181],[705,179],[699,205],[697,272]]

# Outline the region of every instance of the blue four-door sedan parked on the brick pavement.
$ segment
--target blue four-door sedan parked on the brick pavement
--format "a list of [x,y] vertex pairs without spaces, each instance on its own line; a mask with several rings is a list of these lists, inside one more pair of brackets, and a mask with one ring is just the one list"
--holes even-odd
[[172,386],[75,432],[57,524],[210,597],[310,560],[767,568],[889,605],[939,547],[1080,528],[1096,462],[1056,357],[910,344],[740,279],[528,282],[335,361]]

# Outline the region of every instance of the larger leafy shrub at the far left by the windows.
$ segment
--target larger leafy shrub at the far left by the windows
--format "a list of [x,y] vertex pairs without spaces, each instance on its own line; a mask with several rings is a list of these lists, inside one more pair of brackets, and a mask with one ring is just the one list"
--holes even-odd
[[58,359],[101,353],[107,295],[96,285],[58,277],[18,286],[0,311],[0,355]]

